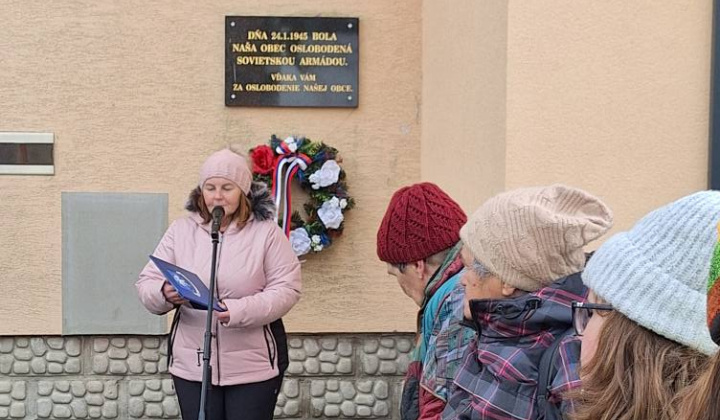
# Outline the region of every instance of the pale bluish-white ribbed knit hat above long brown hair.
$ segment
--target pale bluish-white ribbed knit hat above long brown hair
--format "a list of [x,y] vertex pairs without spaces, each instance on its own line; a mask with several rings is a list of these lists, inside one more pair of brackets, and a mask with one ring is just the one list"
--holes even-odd
[[712,354],[705,308],[720,192],[661,207],[605,242],[583,282],[618,311],[670,340]]

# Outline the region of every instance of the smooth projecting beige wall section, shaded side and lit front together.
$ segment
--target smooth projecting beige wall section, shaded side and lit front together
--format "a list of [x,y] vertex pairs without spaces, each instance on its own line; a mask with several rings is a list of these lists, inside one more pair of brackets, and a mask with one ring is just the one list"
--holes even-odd
[[453,4],[424,2],[422,176],[466,210],[563,182],[618,231],[707,188],[711,1]]

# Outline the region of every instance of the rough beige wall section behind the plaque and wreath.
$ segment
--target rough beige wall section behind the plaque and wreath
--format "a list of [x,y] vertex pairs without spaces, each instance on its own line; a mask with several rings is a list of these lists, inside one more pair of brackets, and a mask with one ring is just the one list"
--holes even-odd
[[[174,219],[211,151],[273,133],[340,149],[358,202],[303,266],[289,329],[412,330],[374,232],[391,192],[420,177],[420,13],[420,0],[4,5],[0,131],[54,132],[56,175],[0,177],[0,286],[24,298],[0,305],[0,333],[61,332],[61,191],[168,192]],[[226,108],[225,15],[359,17],[359,108]]]

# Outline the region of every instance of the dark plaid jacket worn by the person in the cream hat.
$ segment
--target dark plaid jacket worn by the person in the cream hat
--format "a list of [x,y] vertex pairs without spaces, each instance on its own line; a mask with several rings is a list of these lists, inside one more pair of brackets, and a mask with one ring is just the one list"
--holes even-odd
[[[444,420],[535,420],[538,364],[543,352],[572,326],[572,301],[587,289],[574,274],[515,299],[473,300],[480,335],[468,348]],[[565,338],[554,361],[558,368],[550,401],[569,409],[561,393],[579,386],[580,347]]]

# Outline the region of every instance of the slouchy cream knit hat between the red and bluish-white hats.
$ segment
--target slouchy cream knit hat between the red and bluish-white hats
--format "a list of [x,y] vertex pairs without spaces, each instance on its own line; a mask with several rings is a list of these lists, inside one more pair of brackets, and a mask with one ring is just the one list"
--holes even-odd
[[565,185],[520,188],[486,201],[460,230],[475,259],[528,292],[582,271],[583,246],[612,227],[597,197]]

